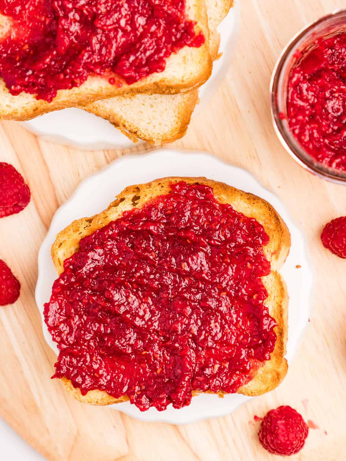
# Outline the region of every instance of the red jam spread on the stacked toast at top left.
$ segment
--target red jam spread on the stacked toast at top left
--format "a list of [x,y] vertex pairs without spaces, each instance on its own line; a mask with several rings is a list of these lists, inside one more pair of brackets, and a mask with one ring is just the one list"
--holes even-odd
[[165,69],[185,45],[200,47],[185,0],[0,0],[11,21],[0,41],[0,77],[51,101],[58,89],[80,86],[90,74],[121,86]]

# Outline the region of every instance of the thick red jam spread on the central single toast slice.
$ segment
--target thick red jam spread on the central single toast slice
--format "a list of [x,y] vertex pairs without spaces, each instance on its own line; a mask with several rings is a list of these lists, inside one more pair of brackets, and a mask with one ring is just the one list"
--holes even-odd
[[142,411],[189,405],[192,390],[236,392],[276,342],[267,243],[255,219],[185,182],[84,237],[44,307],[54,378]]

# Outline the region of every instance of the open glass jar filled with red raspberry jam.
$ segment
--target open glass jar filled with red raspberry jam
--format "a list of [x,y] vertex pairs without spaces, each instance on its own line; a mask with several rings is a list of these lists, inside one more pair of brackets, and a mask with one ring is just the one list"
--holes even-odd
[[274,129],[296,162],[346,184],[346,9],[298,32],[270,82]]

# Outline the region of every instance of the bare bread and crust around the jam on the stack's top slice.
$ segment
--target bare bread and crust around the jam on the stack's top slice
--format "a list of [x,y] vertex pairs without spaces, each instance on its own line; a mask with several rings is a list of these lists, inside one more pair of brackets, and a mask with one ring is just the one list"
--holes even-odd
[[[186,16],[195,22],[195,31],[203,32],[205,42],[201,47],[185,46],[178,53],[172,53],[166,61],[163,72],[155,72],[136,83],[127,85],[119,76],[91,75],[86,82],[72,89],[58,90],[52,102],[37,100],[35,95],[22,92],[12,95],[4,81],[0,79],[0,118],[9,120],[29,120],[54,110],[85,105],[98,99],[110,98],[125,93],[176,94],[197,88],[208,80],[212,70],[209,53],[209,29],[205,2],[203,0],[185,0]],[[0,15],[2,35],[11,30],[12,22]],[[112,85],[109,77],[115,77],[122,85]]]

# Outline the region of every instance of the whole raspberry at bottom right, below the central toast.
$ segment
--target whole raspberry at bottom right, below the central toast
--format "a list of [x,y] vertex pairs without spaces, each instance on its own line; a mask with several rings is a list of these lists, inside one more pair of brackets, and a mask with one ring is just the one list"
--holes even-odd
[[264,416],[258,432],[263,447],[274,455],[294,455],[303,448],[309,428],[293,408],[282,405]]

